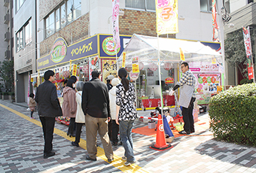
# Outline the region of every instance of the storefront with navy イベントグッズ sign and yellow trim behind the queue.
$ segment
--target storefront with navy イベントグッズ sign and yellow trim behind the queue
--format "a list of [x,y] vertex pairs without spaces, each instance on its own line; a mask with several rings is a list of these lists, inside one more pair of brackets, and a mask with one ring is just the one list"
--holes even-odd
[[[99,68],[102,71],[102,81],[106,83],[108,75],[117,77],[116,59],[121,55],[131,36],[120,35],[120,47],[114,50],[112,35],[93,35],[78,43],[67,45],[65,38],[56,38],[50,53],[37,59],[37,73],[30,75],[30,82],[35,93],[36,87],[44,82],[44,71],[53,70],[56,73],[54,81],[57,95],[62,104],[63,81],[70,76],[77,76],[80,81],[91,79],[91,71]],[[117,56],[116,56],[117,54]],[[63,119],[63,118],[62,118]],[[62,123],[69,123],[65,117]]]

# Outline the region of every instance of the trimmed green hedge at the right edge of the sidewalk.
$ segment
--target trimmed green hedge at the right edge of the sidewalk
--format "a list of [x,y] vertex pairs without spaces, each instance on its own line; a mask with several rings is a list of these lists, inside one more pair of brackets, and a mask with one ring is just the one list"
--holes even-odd
[[209,102],[215,138],[256,146],[256,83],[233,87]]

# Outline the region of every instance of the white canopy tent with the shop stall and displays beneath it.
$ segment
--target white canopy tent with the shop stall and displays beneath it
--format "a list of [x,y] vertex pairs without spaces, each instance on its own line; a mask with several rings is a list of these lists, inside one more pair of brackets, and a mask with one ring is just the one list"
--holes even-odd
[[[212,49],[209,45],[214,48]],[[158,50],[160,53],[160,75],[158,69]],[[221,85],[222,59],[220,44],[184,41],[172,38],[157,38],[145,35],[133,35],[123,54],[117,60],[118,68],[124,66],[130,72],[130,79],[136,85],[137,108],[155,108],[161,105],[175,105],[174,96],[169,96],[169,90],[181,78],[179,70],[181,53],[184,61],[190,65],[190,70],[197,77],[196,94],[200,105],[208,104],[212,93],[217,93]],[[123,61],[124,60],[124,61]],[[138,66],[138,71],[134,67]]]

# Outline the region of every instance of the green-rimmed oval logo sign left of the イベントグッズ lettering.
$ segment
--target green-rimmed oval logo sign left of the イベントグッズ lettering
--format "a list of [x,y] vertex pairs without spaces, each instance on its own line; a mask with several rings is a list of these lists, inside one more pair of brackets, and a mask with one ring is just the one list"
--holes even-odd
[[67,54],[67,43],[64,38],[56,38],[50,51],[50,59],[53,62],[60,62]]

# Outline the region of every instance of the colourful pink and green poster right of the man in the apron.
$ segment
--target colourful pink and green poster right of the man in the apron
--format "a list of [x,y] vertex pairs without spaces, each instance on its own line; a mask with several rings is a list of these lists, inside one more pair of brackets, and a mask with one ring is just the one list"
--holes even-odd
[[217,86],[221,85],[221,74],[194,74],[197,78],[195,93],[197,104],[209,104],[212,93],[217,93]]

